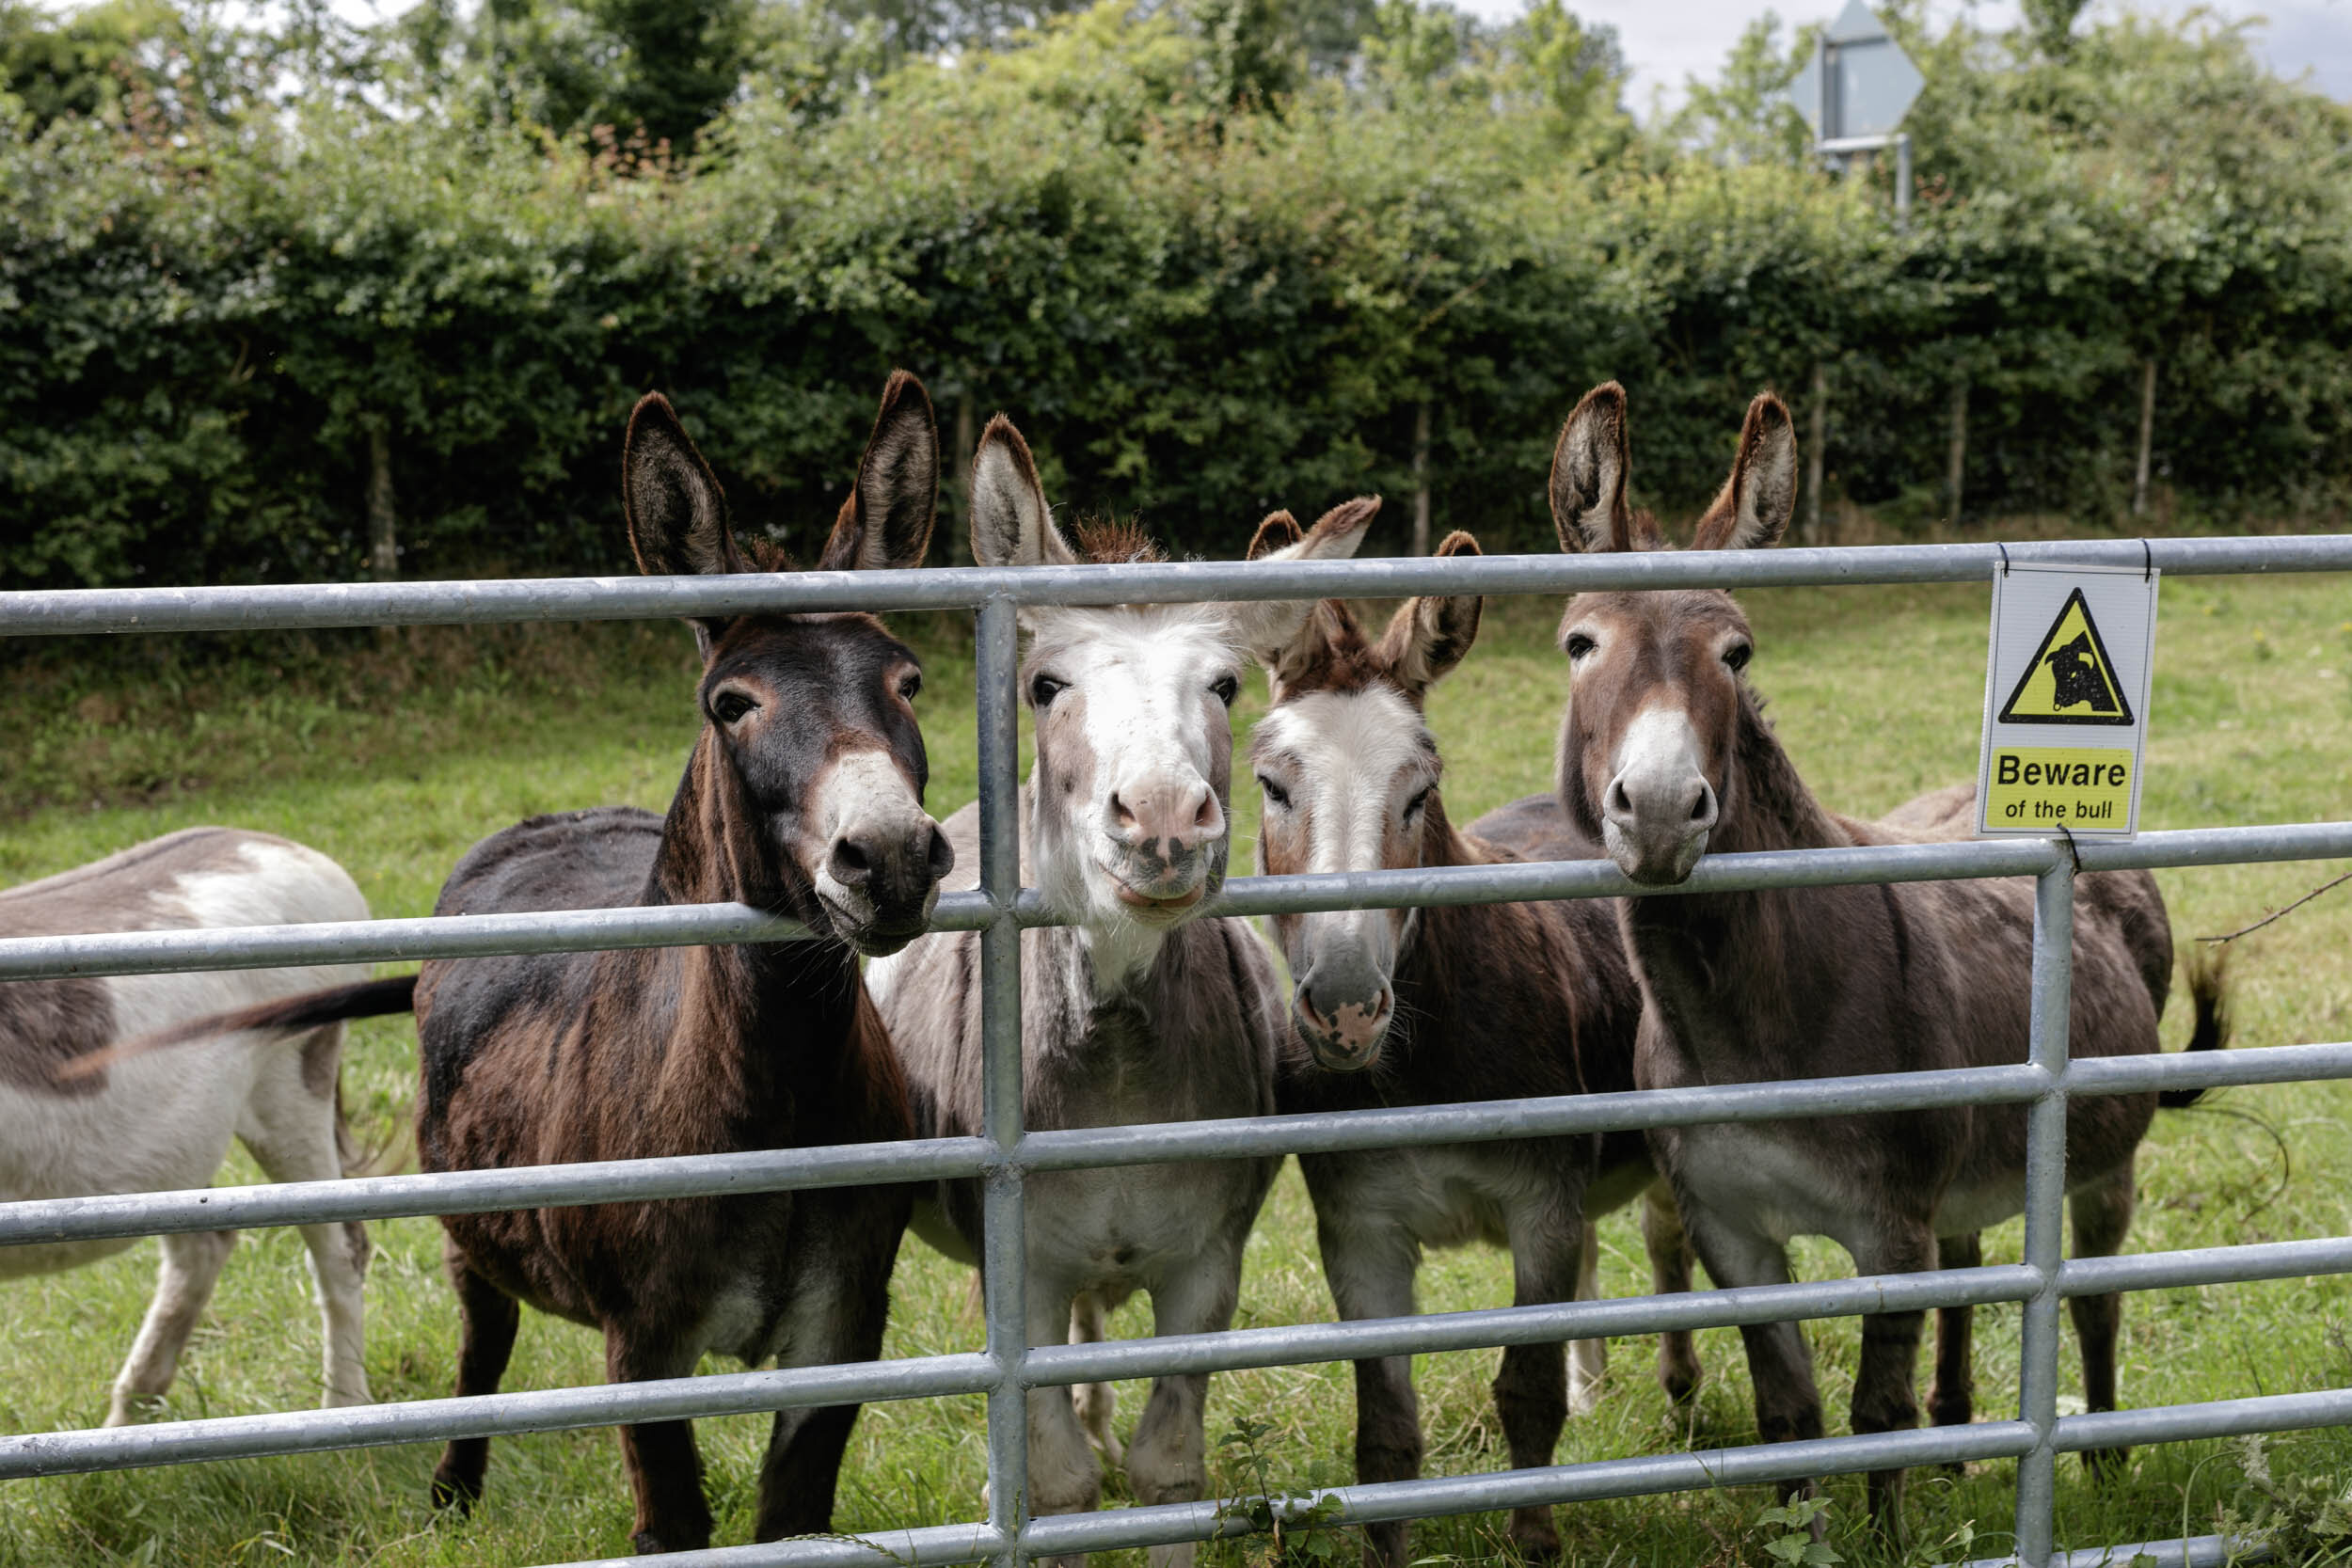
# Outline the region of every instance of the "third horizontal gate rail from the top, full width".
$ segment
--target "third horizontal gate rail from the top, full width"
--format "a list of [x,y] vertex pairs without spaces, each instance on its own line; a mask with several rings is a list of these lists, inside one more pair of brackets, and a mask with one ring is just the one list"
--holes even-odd
[[[2176,1086],[2274,1084],[2352,1077],[2352,1044],[2251,1051],[2091,1058],[2067,1067],[2072,1093],[2140,1093]],[[1157,1121],[1028,1133],[1011,1164],[1025,1171],[1087,1171],[1185,1159],[1336,1154],[1439,1143],[1562,1138],[1712,1121],[1792,1121],[1943,1105],[2020,1105],[2053,1086],[2039,1067],[1952,1067],[1877,1072],[1851,1079],[1708,1084],[1604,1095],[1538,1095],[1465,1105],[1392,1105],[1291,1117]],[[186,1229],[259,1229],[435,1213],[562,1208],[649,1199],[691,1199],[898,1180],[955,1180],[995,1164],[985,1138],[851,1143],[746,1154],[614,1159],[503,1171],[369,1175],[183,1192],[120,1192],[0,1204],[0,1246],[101,1241]]]

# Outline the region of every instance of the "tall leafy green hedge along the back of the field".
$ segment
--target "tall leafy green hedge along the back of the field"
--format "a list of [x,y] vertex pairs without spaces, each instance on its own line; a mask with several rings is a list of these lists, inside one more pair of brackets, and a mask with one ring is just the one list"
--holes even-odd
[[1912,40],[1898,235],[1884,179],[1644,136],[1526,28],[1430,66],[1385,16],[1357,80],[1270,106],[1108,5],[821,110],[783,61],[691,167],[365,106],[16,115],[0,585],[355,576],[379,421],[405,574],[609,571],[644,388],[807,552],[894,364],[950,437],[1007,409],[1056,501],[1197,550],[1404,496],[1421,404],[1437,527],[1541,543],[1550,435],[1606,376],[1637,489],[1689,508],[1745,397],[1816,364],[1832,489],[1896,524],[1938,515],[1955,381],[1973,517],[2114,522],[2150,357],[2178,515],[2352,496],[2352,115],[2230,33]]

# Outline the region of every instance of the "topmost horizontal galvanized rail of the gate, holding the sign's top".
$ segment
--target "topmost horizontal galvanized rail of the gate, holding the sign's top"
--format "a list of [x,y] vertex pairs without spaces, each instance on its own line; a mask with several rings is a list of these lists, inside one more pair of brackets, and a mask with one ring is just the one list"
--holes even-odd
[[[2352,536],[2070,538],[2006,545],[2016,564],[2154,562],[2176,576],[2352,571]],[[1623,555],[1388,557],[1355,562],[1157,562],[1129,567],[955,567],[731,576],[494,578],[447,583],[256,583],[242,588],[33,588],[0,592],[0,635],[223,632],[325,625],[654,621],[755,611],[1176,604],[1197,599],[1395,599],[1416,592],[1613,588],[1795,588],[1983,583],[2002,545],[1816,550],[1635,550]]]

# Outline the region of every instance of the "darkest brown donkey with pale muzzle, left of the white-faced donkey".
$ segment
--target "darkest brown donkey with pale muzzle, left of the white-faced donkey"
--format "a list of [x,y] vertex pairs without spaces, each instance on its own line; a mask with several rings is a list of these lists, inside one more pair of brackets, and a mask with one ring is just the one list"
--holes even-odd
[[[670,404],[628,423],[623,508],[647,574],[753,571]],[[826,543],[826,569],[917,567],[931,541],[938,435],[896,374]],[[774,562],[762,562],[774,564]],[[694,621],[703,733],[668,818],[626,806],[539,816],[475,844],[435,914],[748,903],[802,943],[433,959],[414,980],[428,1171],[731,1154],[913,1133],[906,1079],[858,980],[858,952],[913,940],[955,865],[922,811],[929,773],[915,656],[873,616]],[[318,1027],[407,1011],[379,980],[247,1013]],[[181,1030],[179,1034],[186,1034]],[[463,1345],[459,1394],[492,1394],[520,1302],[604,1333],[614,1382],[684,1378],[703,1352],[781,1366],[882,1352],[906,1187],[447,1215]],[[760,1540],[826,1530],[856,1406],[779,1410],[760,1469]],[[710,1542],[694,1427],[621,1427],[637,1552]],[[437,1505],[482,1495],[489,1439],[449,1443]]]

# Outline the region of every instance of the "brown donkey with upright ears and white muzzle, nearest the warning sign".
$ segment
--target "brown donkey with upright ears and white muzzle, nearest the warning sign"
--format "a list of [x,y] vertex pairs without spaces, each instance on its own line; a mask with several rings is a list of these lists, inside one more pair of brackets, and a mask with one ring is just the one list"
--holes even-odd
[[[1625,505],[1625,395],[1590,393],[1559,433],[1552,517],[1564,550],[1658,550]],[[1780,538],[1797,501],[1797,444],[1778,397],[1757,397],[1700,550]],[[1830,849],[1964,832],[1966,790],[1882,823],[1837,816],[1804,785],[1743,670],[1755,651],[1729,592],[1588,592],[1559,623],[1569,710],[1559,795],[1635,882],[1672,886],[1705,851]],[[1990,1067],[2027,1056],[2034,889],[2027,879],[1905,882],[1628,898],[1625,947],[1649,1001],[1642,1088]],[[2074,1056],[2157,1048],[2171,987],[2171,926],[2145,872],[2082,877],[2074,898]],[[2192,980],[2192,1048],[2223,1044],[2220,985]],[[2194,1095],[2166,1098],[2166,1105]],[[2131,1161],[2157,1095],[2067,1105],[2074,1253],[2103,1255],[2131,1227]],[[2023,1208],[2025,1110],[1978,1105],[1825,1121],[1661,1128],[1651,1147],[1719,1286],[1783,1284],[1785,1244],[1839,1241],[1863,1274],[1966,1267],[1976,1237]],[[2122,1305],[2074,1298],[2084,1392],[2114,1408]],[[1938,1425],[1969,1420],[1969,1316],[1938,1321]],[[1912,1427],[1919,1312],[1863,1319],[1853,1429]],[[1740,1331],[1766,1441],[1820,1436],[1820,1394],[1797,1324]],[[1872,1514],[1900,1523],[1903,1472],[1870,1476]]]

